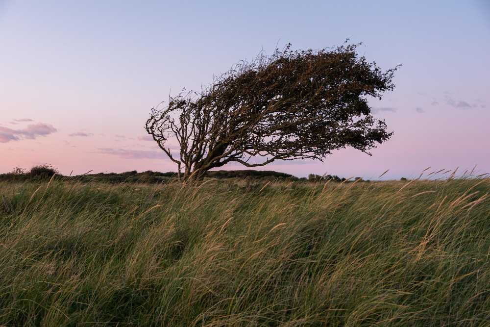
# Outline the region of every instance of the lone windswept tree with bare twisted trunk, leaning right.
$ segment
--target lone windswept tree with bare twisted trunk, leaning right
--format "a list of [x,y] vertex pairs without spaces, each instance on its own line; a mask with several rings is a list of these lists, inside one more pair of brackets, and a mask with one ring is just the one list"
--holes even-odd
[[393,90],[397,67],[382,71],[358,46],[261,53],[201,92],[184,90],[164,109],[152,108],[146,130],[184,179],[230,162],[322,161],[346,147],[370,155],[392,132],[371,116],[368,97]]

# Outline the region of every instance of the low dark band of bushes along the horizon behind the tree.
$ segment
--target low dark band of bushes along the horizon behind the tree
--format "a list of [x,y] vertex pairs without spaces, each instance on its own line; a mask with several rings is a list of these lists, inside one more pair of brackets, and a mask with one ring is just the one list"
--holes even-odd
[[[34,166],[30,170],[25,171],[20,168],[15,168],[12,172],[7,174],[0,174],[0,181],[36,181],[49,179],[52,176],[56,179],[62,179],[67,181],[81,181],[81,182],[106,182],[106,183],[161,183],[169,181],[171,179],[178,178],[175,172],[137,172],[135,170],[124,173],[98,173],[98,174],[84,174],[77,176],[63,176],[59,174],[58,170],[50,165]],[[291,181],[327,181],[343,182],[345,178],[341,178],[335,175],[315,175],[310,174],[306,177],[296,177],[286,173],[279,173],[270,170],[257,171],[257,170],[219,170],[208,171],[205,174],[207,178],[242,178],[242,179],[284,179]],[[355,179],[362,180],[361,177]]]

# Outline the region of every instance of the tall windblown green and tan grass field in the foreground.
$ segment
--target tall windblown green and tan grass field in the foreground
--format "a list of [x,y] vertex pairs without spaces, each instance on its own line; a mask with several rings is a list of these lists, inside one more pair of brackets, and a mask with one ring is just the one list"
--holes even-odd
[[489,325],[489,179],[0,193],[3,326]]

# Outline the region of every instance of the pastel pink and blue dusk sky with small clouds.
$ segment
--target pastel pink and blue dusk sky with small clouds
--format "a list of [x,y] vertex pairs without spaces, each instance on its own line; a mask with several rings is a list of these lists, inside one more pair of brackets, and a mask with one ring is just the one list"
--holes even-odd
[[[348,3],[347,3],[348,2]],[[396,88],[372,100],[394,131],[372,156],[261,170],[307,176],[490,173],[490,2],[0,0],[0,173],[51,164],[63,174],[175,171],[143,128],[151,107],[261,50],[345,39]],[[226,169],[247,169],[239,164]]]

